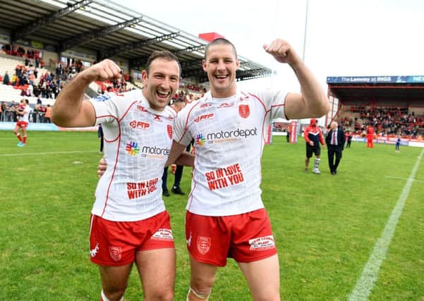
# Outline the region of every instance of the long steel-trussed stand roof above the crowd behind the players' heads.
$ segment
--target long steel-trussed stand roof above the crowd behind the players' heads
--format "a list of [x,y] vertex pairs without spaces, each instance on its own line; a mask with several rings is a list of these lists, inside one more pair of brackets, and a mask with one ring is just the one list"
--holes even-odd
[[[2,0],[0,15],[0,27],[10,30],[12,44],[32,39],[53,44],[58,52],[84,47],[97,51],[99,59],[128,59],[130,68],[143,66],[152,51],[167,49],[181,61],[183,78],[207,81],[201,66],[207,41],[112,1]],[[239,59],[237,80],[272,74],[259,63]]]

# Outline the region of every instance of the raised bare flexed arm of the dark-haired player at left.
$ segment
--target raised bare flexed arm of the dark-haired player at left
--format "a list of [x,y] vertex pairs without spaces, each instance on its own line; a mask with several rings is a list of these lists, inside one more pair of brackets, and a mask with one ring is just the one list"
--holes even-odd
[[78,73],[59,93],[52,108],[52,122],[66,128],[94,125],[95,109],[90,102],[83,101],[85,90],[95,80],[119,78],[121,68],[109,59]]

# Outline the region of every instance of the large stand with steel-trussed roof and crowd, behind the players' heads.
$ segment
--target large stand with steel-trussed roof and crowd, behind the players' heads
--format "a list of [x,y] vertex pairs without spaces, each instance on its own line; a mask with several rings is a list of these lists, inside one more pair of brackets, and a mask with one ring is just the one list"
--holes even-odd
[[[207,76],[201,66],[205,39],[113,1],[24,0],[15,5],[13,0],[4,0],[0,1],[0,13],[0,76],[7,70],[10,82],[13,78],[13,85],[0,84],[0,101],[9,107],[23,97],[29,99],[35,111],[54,105],[56,94],[68,80],[85,66],[107,58],[121,66],[124,81],[92,83],[86,97],[143,87],[141,70],[147,56],[158,49],[173,52],[181,62],[186,82],[174,100],[190,102],[207,90]],[[239,59],[237,80],[272,74],[265,66],[243,56]],[[16,66],[25,66],[23,78],[16,75]],[[22,82],[24,85],[20,85]],[[0,121],[10,118],[2,110]]]

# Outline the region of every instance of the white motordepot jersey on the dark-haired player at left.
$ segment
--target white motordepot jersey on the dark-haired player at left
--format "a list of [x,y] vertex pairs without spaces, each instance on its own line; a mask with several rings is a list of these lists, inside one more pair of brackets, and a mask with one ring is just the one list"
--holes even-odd
[[162,174],[172,145],[176,113],[155,111],[141,90],[90,99],[102,123],[107,171],[92,214],[110,221],[140,221],[165,210]]

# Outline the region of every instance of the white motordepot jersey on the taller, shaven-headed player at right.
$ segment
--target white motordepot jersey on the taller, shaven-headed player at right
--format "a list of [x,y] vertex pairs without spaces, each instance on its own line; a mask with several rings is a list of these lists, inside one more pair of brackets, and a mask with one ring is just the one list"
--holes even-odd
[[210,92],[178,112],[174,140],[194,138],[195,171],[186,209],[228,216],[263,208],[261,156],[272,119],[283,117],[285,92],[238,91],[214,99]]

